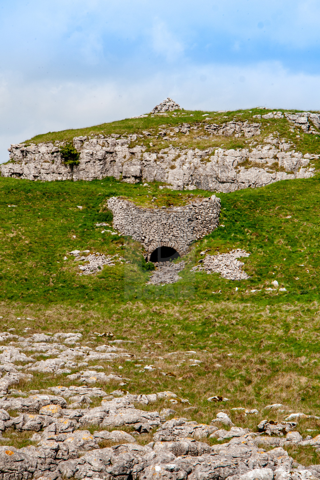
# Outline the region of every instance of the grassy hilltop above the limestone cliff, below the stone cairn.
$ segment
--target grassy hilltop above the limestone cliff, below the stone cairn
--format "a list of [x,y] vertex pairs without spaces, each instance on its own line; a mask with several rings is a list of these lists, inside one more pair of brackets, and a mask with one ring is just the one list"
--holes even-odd
[[[87,135],[92,137],[97,134],[103,134],[105,136],[112,133],[127,136],[132,133],[141,134],[143,138],[138,138],[135,144],[143,144],[147,151],[158,152],[161,148],[166,148],[171,143],[174,146],[180,146],[181,148],[208,148],[208,147],[220,147],[224,148],[244,148],[253,144],[254,142],[261,143],[264,138],[268,137],[271,133],[276,138],[285,138],[293,142],[293,148],[305,153],[320,153],[320,136],[303,134],[302,131],[296,129],[292,132],[292,125],[285,119],[256,119],[253,115],[264,115],[274,110],[264,110],[258,108],[252,108],[251,110],[236,110],[228,112],[206,112],[210,120],[205,120],[205,113],[194,110],[177,110],[176,112],[168,112],[166,116],[152,116],[148,114],[147,117],[138,119],[126,119],[119,120],[110,123],[103,123],[94,127],[85,127],[80,129],[63,130],[61,132],[48,132],[24,141],[26,144],[41,143],[48,141],[71,141],[75,136]],[[284,110],[291,113],[295,113],[296,110]],[[201,136],[207,136],[207,132],[203,129],[207,123],[224,123],[231,120],[261,123],[261,135],[255,136],[251,139],[245,139],[244,137],[210,137],[202,138]],[[175,126],[180,125],[182,122],[189,123],[191,126],[198,125],[198,130],[190,130],[190,135],[184,135],[183,133],[175,133],[175,137],[178,140],[173,141],[163,140],[158,137],[159,128],[173,129]],[[201,125],[199,125],[201,123]],[[152,134],[152,138],[148,138],[143,135],[143,131],[149,131]],[[297,137],[297,134],[299,135]],[[320,135],[320,134],[319,134]],[[197,139],[198,138],[198,139]],[[153,145],[150,145],[150,140]]]

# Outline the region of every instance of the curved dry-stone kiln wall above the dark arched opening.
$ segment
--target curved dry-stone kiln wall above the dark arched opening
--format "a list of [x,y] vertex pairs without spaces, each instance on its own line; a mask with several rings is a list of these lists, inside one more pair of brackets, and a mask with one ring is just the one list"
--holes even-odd
[[113,213],[114,228],[140,241],[148,259],[161,246],[185,255],[194,240],[219,225],[220,198],[215,195],[172,208],[141,208],[119,197],[112,197],[107,203]]

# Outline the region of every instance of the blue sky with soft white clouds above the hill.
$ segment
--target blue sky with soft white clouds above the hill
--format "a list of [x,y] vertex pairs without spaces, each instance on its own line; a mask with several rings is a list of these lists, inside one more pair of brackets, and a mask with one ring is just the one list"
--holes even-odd
[[0,163],[149,112],[320,109],[319,0],[1,0]]

